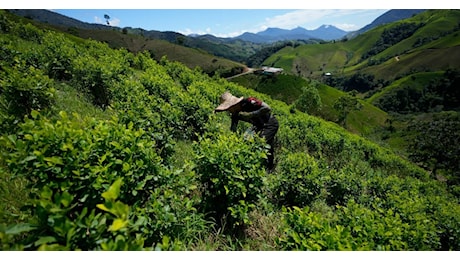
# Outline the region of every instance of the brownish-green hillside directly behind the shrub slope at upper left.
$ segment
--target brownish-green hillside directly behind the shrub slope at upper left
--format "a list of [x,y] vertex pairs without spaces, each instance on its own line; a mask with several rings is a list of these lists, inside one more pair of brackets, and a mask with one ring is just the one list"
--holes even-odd
[[[154,35],[152,39],[144,30],[122,30],[105,25],[96,26],[47,10],[11,10],[11,12],[24,16],[27,22],[31,22],[41,28],[52,28],[79,38],[105,42],[112,48],[124,48],[134,53],[147,51],[157,61],[165,56],[169,60],[180,61],[192,69],[200,67],[210,75],[231,76],[243,72],[246,67],[242,63],[216,57],[203,49],[187,47],[184,42],[187,37],[178,33],[170,32],[163,33],[161,36]],[[32,17],[34,18],[33,20],[29,19]],[[20,19],[20,17],[18,16],[14,19]],[[40,21],[45,21],[46,23]],[[149,33],[153,34],[154,32]],[[160,34],[160,32],[157,33]]]

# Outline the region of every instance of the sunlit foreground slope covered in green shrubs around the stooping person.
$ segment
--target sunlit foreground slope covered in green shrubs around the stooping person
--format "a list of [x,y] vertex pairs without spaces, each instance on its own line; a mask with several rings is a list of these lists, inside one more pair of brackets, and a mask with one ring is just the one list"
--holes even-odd
[[[2,250],[460,250],[458,198],[391,150],[199,68],[12,19]],[[213,113],[225,90],[273,108],[274,173],[263,139]]]

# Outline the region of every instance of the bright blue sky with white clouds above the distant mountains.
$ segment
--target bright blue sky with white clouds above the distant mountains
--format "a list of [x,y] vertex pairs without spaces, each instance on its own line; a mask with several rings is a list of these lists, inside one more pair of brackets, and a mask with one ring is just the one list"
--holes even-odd
[[[88,22],[146,30],[234,37],[269,27],[316,29],[334,25],[344,31],[358,30],[390,9],[460,9],[454,0],[15,0],[0,8],[49,9]],[[375,3],[379,2],[379,3]]]

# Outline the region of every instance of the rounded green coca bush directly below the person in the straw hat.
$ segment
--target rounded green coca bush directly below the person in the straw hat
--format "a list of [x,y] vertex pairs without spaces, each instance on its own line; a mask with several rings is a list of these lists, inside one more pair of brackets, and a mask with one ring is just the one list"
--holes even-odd
[[194,162],[202,185],[201,210],[231,229],[250,224],[264,185],[267,147],[263,139],[236,134],[204,137],[196,143]]

